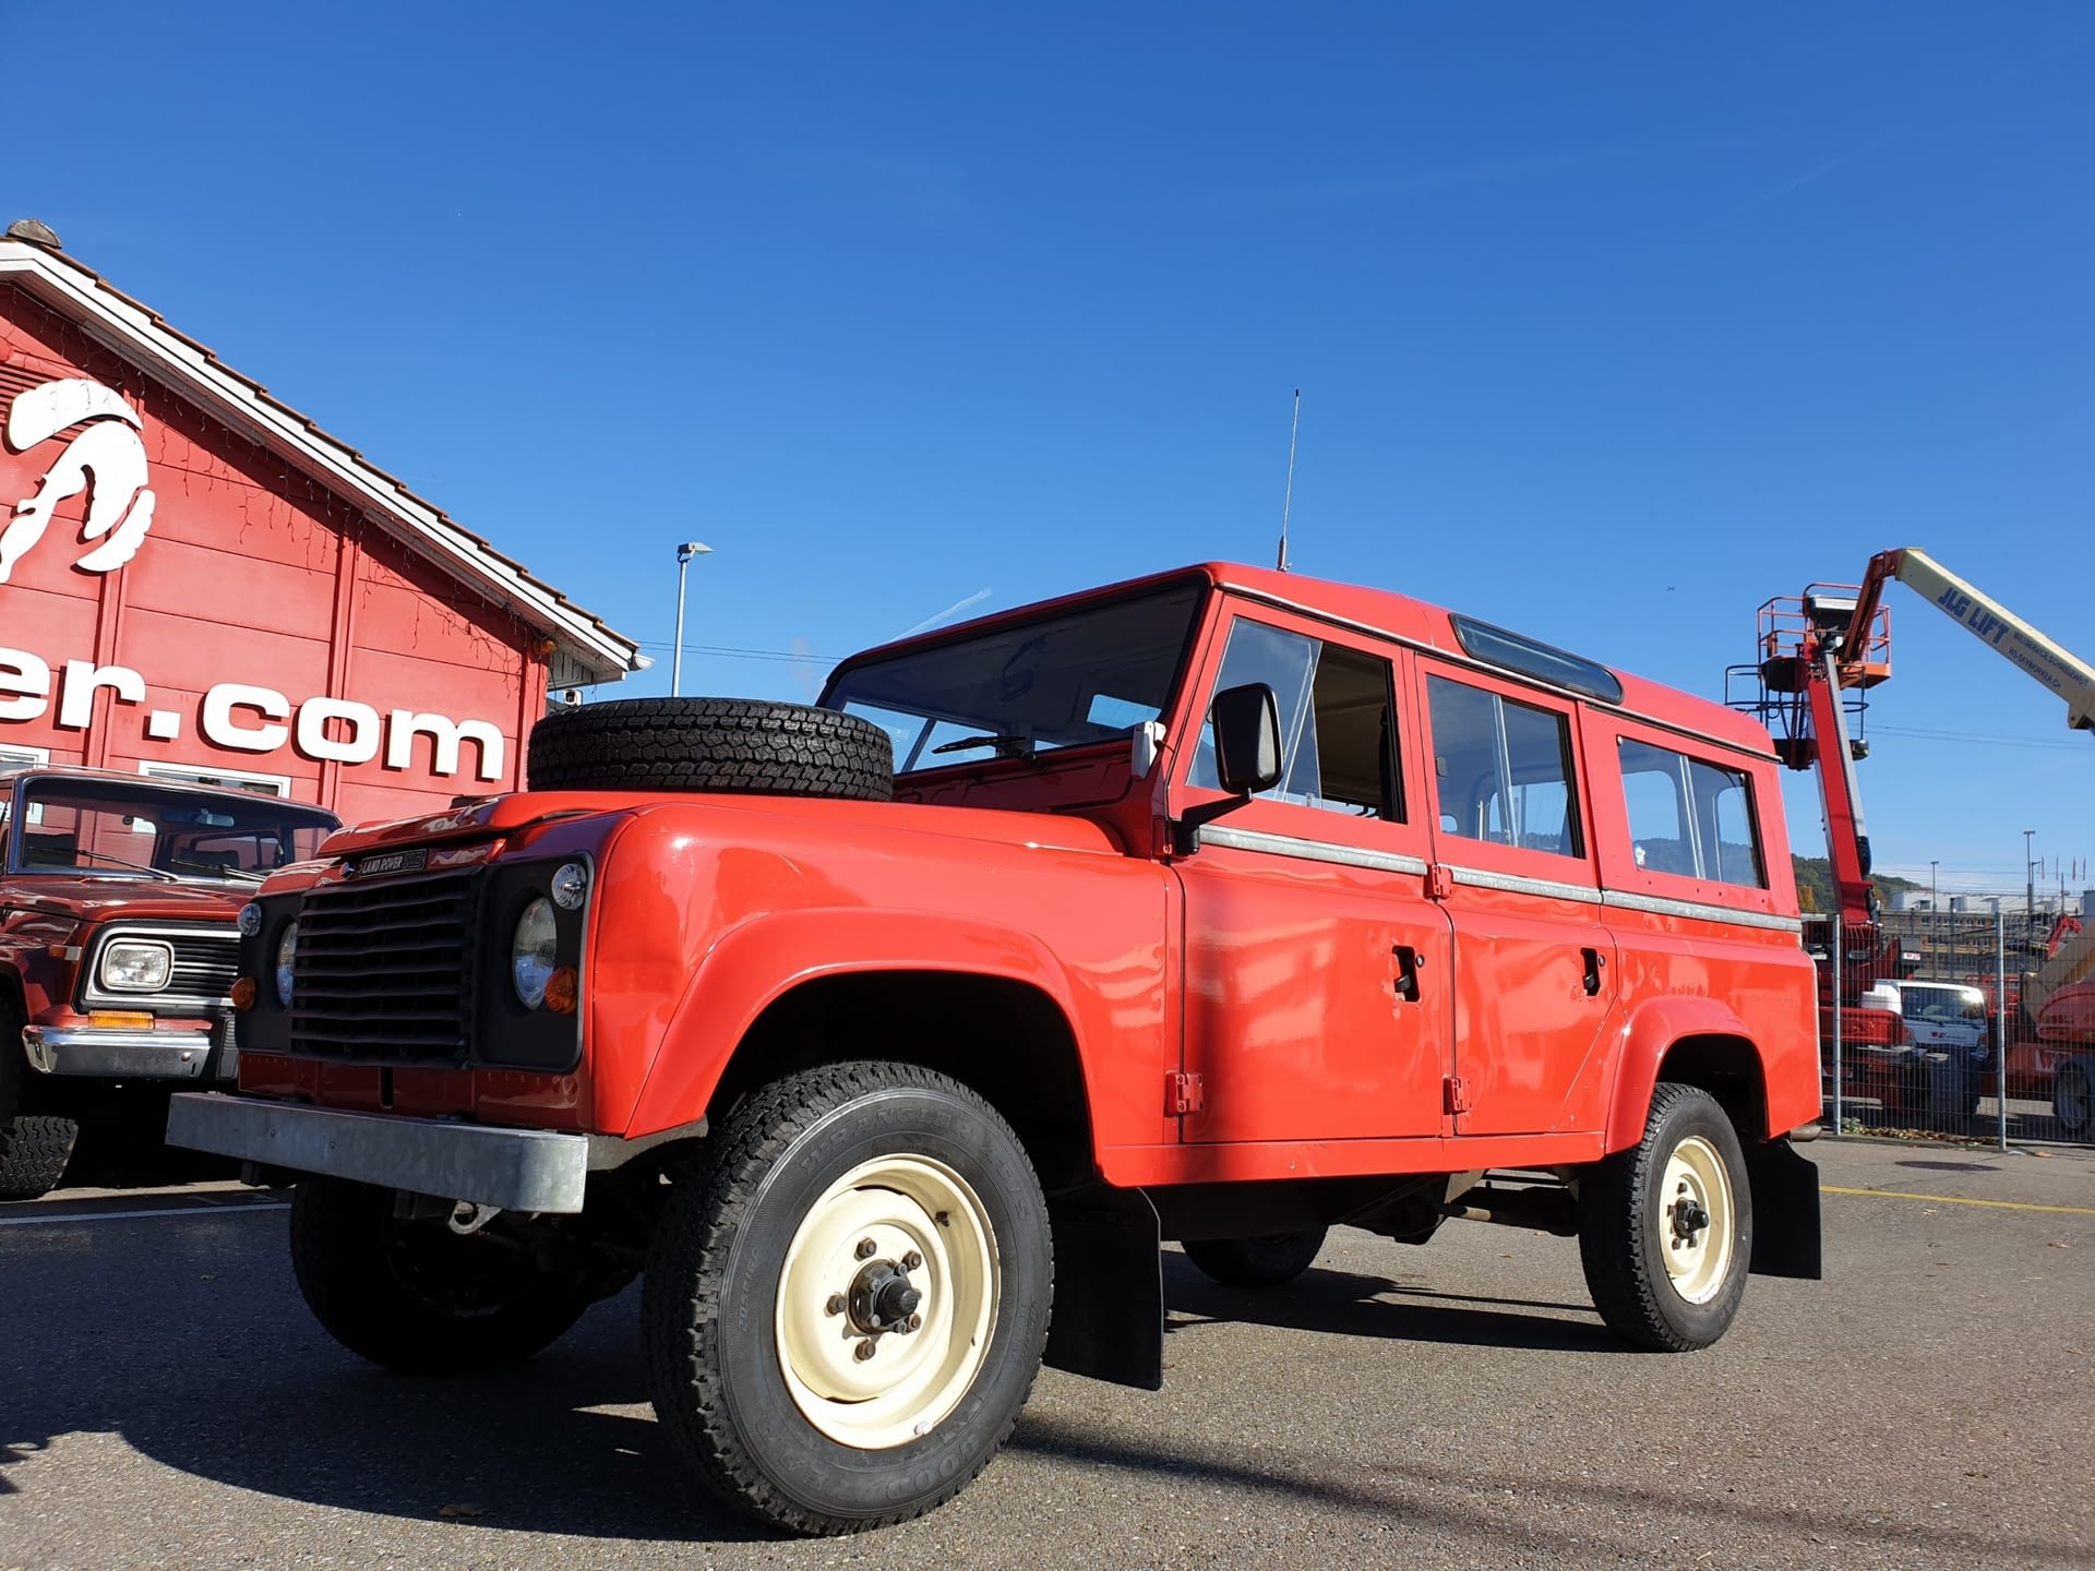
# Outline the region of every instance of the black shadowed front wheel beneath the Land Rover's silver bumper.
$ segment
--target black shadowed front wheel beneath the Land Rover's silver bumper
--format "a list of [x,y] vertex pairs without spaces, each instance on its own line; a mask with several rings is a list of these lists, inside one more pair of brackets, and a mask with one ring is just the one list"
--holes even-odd
[[580,1320],[593,1295],[499,1238],[394,1217],[390,1190],[308,1177],[291,1192],[291,1271],[314,1320],[400,1374],[515,1364]]

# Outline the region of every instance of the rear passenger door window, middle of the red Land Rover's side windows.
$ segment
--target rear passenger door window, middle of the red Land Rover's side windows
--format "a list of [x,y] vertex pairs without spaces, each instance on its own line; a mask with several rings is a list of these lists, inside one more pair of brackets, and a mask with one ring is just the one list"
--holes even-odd
[[1571,790],[1571,725],[1448,677],[1427,677],[1441,834],[1584,857]]

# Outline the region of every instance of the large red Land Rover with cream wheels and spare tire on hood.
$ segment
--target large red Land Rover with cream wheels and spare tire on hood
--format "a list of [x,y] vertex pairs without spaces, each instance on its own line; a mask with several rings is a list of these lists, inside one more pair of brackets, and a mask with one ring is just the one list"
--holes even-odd
[[924,1512],[1045,1357],[1159,1387],[1159,1242],[1575,1236],[1630,1343],[1818,1274],[1816,993],[1754,721],[1431,605],[1205,566],[629,700],[530,790],[241,913],[239,1096],[316,1318],[526,1357],[645,1278],[654,1406],[792,1531]]

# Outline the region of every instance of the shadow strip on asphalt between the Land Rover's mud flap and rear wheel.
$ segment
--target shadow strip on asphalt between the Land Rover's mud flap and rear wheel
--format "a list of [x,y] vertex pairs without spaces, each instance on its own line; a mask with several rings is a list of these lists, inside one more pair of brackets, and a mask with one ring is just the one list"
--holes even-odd
[[[1276,1288],[1230,1288],[1192,1261],[1165,1253],[1167,1330],[1205,1322],[1276,1326],[1328,1336],[1441,1343],[1450,1347],[1529,1347],[1573,1353],[1630,1353],[1594,1320],[1588,1303],[1471,1299],[1408,1288],[1383,1276],[1307,1269]],[[1565,1320],[1573,1313],[1580,1320]]]

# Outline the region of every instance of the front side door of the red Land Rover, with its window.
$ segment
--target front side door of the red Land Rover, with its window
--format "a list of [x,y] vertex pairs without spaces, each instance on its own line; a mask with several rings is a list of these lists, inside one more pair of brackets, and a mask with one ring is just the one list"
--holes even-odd
[[[1393,647],[1284,612],[1236,616],[1203,685],[1274,689],[1282,775],[1173,863],[1186,901],[1188,1142],[1443,1133],[1448,917],[1425,897],[1416,748]],[[1217,798],[1200,733],[1177,802]]]

